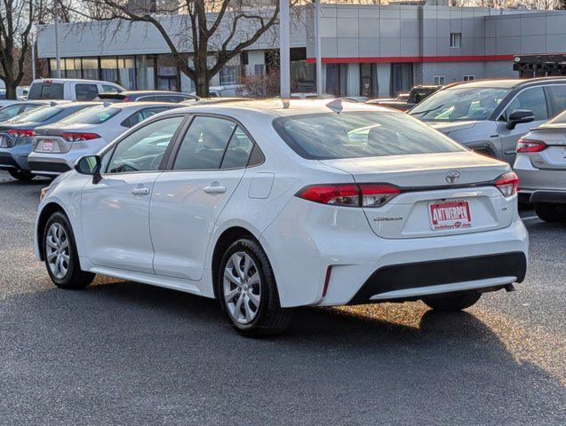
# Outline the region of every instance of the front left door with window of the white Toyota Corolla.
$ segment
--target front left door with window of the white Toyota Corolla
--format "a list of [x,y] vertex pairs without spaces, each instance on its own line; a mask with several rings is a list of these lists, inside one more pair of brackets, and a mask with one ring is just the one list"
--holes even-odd
[[103,158],[99,183],[84,185],[82,225],[92,264],[154,273],[149,202],[163,157],[185,117],[148,122]]

